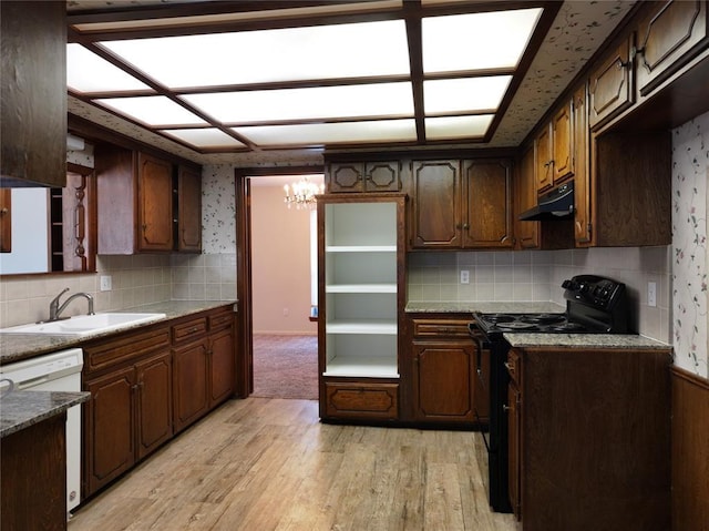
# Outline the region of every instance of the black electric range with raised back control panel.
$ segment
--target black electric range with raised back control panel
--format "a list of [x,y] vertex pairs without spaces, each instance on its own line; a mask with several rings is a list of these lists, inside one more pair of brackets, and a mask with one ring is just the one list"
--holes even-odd
[[[510,345],[507,333],[533,334],[626,334],[628,303],[625,285],[596,275],[578,275],[564,280],[566,312],[534,314],[474,313],[469,325],[477,343],[476,372],[479,385],[489,386],[490,429],[484,436],[487,448],[490,506],[497,512],[511,512],[507,487],[507,385],[504,366]],[[481,353],[490,350],[490,374],[481,361]]]

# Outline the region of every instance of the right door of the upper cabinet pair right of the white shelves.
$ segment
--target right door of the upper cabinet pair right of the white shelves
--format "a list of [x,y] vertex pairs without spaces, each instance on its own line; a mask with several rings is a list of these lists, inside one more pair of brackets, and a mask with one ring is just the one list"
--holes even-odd
[[465,163],[464,247],[512,247],[512,169],[508,161]]

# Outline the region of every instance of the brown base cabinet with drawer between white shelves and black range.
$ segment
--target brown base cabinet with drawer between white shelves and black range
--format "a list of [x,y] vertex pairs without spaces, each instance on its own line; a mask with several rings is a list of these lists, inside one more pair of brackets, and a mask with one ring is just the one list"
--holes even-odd
[[[414,315],[410,320],[413,420],[446,425],[487,421],[490,399],[477,380],[470,317]],[[489,362],[489,358],[485,364]],[[489,372],[485,372],[489,374]],[[480,399],[480,404],[474,400]],[[476,415],[477,411],[477,415]]]

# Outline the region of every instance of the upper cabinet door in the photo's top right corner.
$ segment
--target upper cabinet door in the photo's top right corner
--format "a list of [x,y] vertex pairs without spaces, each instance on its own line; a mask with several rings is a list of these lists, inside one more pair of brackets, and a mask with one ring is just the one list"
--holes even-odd
[[706,49],[706,1],[655,2],[638,31],[637,78],[645,96]]

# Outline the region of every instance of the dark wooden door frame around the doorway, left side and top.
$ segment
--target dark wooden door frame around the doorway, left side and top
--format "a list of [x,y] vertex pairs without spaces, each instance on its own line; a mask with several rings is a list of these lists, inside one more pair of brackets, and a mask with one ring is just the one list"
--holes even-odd
[[254,303],[251,298],[251,186],[249,177],[311,175],[325,173],[322,164],[312,166],[235,167],[236,206],[236,294],[237,294],[237,388],[246,398],[254,392]]

